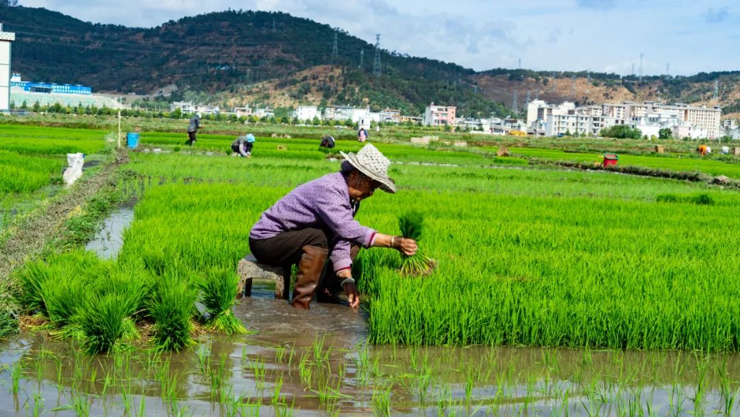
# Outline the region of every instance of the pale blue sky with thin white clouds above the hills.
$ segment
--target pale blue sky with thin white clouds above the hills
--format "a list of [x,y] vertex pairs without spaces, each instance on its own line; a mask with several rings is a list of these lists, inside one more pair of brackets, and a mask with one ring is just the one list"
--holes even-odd
[[[152,27],[232,9],[290,13],[413,56],[518,67],[672,75],[740,70],[740,2],[707,0],[21,0],[84,21]],[[122,13],[123,11],[123,13]],[[341,47],[341,45],[340,45]]]

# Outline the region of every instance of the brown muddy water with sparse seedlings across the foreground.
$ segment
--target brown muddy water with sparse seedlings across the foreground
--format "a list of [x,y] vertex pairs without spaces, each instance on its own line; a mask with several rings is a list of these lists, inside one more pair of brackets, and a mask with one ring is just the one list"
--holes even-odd
[[203,337],[181,353],[139,348],[90,358],[73,342],[29,333],[0,342],[0,416],[35,408],[58,416],[740,411],[736,355],[369,346],[365,313],[332,304],[304,313],[272,293],[255,284],[235,307],[255,333]]

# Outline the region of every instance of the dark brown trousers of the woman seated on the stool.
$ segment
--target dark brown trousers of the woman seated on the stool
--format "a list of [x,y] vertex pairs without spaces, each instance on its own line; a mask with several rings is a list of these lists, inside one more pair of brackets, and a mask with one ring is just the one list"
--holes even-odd
[[[330,242],[329,237],[326,236],[326,232],[321,229],[309,227],[303,230],[283,232],[272,238],[249,238],[249,249],[252,250],[252,255],[257,258],[260,264],[283,267],[297,264],[300,261],[300,256],[303,254],[302,248],[306,245],[328,249],[329,253],[331,253],[332,246]],[[352,261],[354,261],[354,258],[359,252],[359,246],[352,245],[350,247],[349,256]],[[333,286],[336,287],[334,290],[337,290],[339,281],[337,279],[331,279],[335,277],[332,261],[326,263],[321,277],[319,288]]]

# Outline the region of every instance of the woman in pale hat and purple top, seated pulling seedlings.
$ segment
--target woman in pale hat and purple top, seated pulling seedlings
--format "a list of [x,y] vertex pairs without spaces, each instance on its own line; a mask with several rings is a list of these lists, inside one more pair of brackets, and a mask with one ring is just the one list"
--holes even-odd
[[[341,153],[341,152],[340,152]],[[297,264],[293,307],[308,309],[316,293],[324,261],[332,261],[336,280],[349,297],[350,307],[360,304],[351,275],[357,247],[393,247],[406,255],[417,251],[414,239],[377,233],[364,227],[354,214],[360,201],[380,187],[395,193],[388,177],[391,161],[367,144],[346,159],[338,173],[327,174],[292,190],[267,209],[249,233],[252,255],[263,264]]]

